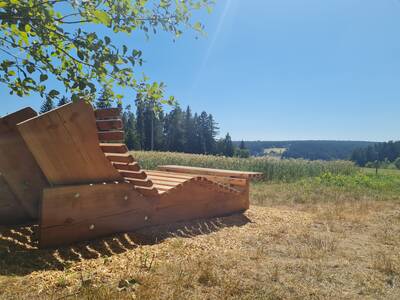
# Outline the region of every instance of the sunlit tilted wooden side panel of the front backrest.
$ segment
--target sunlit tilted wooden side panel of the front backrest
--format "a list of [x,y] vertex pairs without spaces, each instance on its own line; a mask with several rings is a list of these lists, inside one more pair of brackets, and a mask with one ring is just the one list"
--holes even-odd
[[122,181],[99,147],[93,108],[66,104],[18,129],[52,185]]

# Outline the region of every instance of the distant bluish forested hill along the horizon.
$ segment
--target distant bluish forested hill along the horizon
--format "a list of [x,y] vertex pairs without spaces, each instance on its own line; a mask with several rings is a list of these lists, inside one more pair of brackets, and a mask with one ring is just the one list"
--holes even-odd
[[[240,142],[234,142],[239,146]],[[348,160],[357,148],[376,144],[364,141],[245,141],[253,156],[268,155],[270,149],[286,149],[282,158],[304,158],[309,160]]]

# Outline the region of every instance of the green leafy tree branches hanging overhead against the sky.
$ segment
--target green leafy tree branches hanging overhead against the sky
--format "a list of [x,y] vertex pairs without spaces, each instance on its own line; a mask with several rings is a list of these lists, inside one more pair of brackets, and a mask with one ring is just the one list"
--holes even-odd
[[[0,0],[0,82],[20,97],[38,92],[54,99],[60,92],[46,85],[54,78],[72,100],[93,100],[99,90],[122,99],[115,87],[135,89],[145,98],[164,99],[163,83],[138,75],[142,52],[113,39],[135,31],[165,31],[179,37],[198,32],[194,10],[210,10],[214,0]],[[105,33],[105,34],[103,34]],[[108,34],[108,35],[107,35]]]

